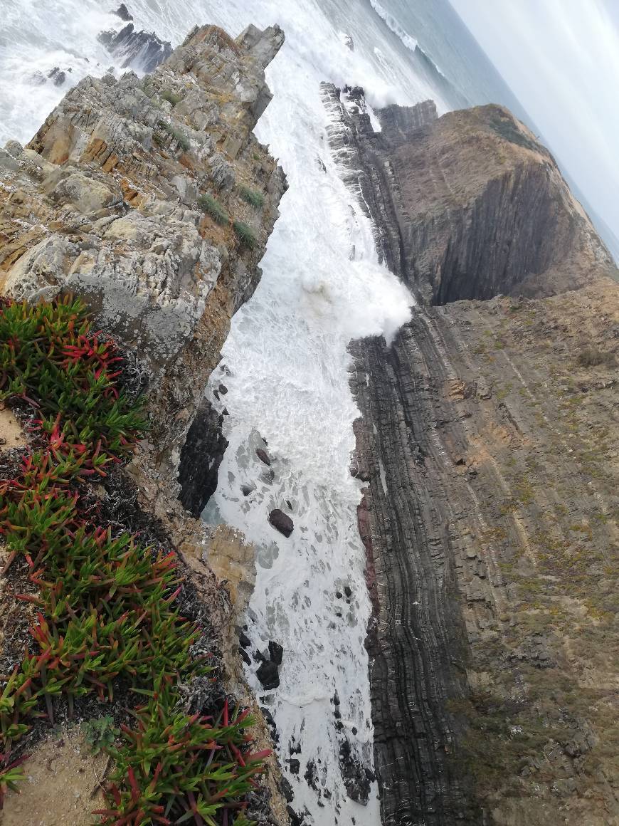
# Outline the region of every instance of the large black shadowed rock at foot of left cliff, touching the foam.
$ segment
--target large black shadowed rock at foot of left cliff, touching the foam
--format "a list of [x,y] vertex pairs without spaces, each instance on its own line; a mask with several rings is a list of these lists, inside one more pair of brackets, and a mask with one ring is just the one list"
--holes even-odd
[[182,447],[178,498],[185,510],[196,517],[201,515],[217,489],[220,464],[228,447],[228,440],[221,430],[223,420],[210,401],[203,399]]

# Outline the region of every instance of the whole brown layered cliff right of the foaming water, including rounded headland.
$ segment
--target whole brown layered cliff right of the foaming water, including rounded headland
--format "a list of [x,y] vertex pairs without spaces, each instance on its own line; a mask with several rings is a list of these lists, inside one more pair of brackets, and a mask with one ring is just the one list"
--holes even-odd
[[505,110],[324,97],[421,302],[351,347],[383,823],[617,823],[612,261]]

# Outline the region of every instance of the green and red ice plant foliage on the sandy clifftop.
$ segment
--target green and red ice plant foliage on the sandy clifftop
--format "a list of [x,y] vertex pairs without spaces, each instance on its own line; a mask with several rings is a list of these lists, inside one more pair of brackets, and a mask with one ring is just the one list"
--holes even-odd
[[120,364],[80,301],[0,304],[0,401],[33,406],[45,445],[0,481],[5,572],[26,559],[33,592],[17,598],[36,610],[21,664],[0,676],[0,808],[23,779],[14,746],[36,718],[54,723],[54,699],[73,712],[121,685],[139,705],[135,727],[102,747],[116,765],[94,813],[102,824],[247,826],[245,799],[268,752],[250,753],[252,720],[228,700],[215,715],[184,709],[180,686],[212,676],[191,653],[201,628],[176,607],[176,554],[92,525],[81,508],[89,480],[129,457],[144,431],[139,403],[117,386]]

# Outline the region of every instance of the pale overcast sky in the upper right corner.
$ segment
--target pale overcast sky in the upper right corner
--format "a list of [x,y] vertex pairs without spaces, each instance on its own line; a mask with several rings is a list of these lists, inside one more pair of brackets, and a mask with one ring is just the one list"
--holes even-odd
[[619,236],[619,0],[451,0]]

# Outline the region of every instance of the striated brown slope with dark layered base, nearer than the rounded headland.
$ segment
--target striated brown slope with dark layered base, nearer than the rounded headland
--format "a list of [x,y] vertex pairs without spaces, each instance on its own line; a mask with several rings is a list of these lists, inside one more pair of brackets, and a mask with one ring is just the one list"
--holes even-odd
[[619,292],[354,344],[385,824],[612,824]]

